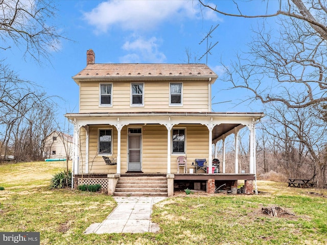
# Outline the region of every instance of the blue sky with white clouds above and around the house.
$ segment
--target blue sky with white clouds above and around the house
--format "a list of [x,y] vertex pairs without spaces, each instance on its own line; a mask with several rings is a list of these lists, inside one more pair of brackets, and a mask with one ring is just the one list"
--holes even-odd
[[[235,11],[232,1],[212,1],[226,11]],[[255,1],[247,13],[266,12],[266,4]],[[233,18],[217,15],[211,10],[200,10],[197,1],[56,1],[57,16],[52,21],[66,37],[59,51],[52,53],[51,64],[24,59],[24,48],[5,51],[6,62],[21,79],[42,86],[48,95],[57,95],[59,117],[66,112],[78,112],[78,85],[72,76],[86,66],[86,51],[92,48],[96,63],[186,63],[185,50],[192,54],[192,62],[205,63],[206,42],[199,42],[207,32],[219,24],[209,43],[219,42],[208,56],[208,66],[219,76],[221,62],[235,60],[251,41],[252,28],[260,19]],[[250,8],[249,8],[250,7]],[[273,9],[272,9],[273,10]],[[229,85],[219,79],[213,87],[215,112],[262,111],[259,104],[239,104],[244,90],[226,90]],[[228,103],[222,103],[231,101]]]

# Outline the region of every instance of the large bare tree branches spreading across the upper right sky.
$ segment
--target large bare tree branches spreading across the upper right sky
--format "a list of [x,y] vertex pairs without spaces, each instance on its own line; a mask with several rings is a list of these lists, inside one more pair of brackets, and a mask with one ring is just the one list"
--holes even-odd
[[[225,81],[232,88],[245,88],[253,93],[249,99],[262,103],[274,101],[289,108],[301,108],[327,101],[327,8],[315,0],[279,1],[271,14],[247,15],[237,5],[238,13],[228,13],[205,4],[219,14],[279,19],[279,30],[266,30],[265,25],[256,31],[249,44],[250,52],[238,57],[237,62],[224,65]],[[269,1],[268,1],[269,2]],[[250,4],[249,2],[247,4]],[[254,3],[256,4],[256,3]]]

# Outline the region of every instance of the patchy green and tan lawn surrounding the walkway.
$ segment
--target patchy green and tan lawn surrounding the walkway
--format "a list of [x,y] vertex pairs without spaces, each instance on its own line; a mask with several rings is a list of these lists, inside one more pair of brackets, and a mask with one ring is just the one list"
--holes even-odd
[[[154,206],[157,233],[83,234],[115,207],[105,193],[49,188],[62,162],[0,165],[0,231],[37,231],[41,244],[327,244],[327,198],[259,181],[259,195],[178,194]],[[309,193],[315,192],[315,193]],[[268,216],[263,207],[289,214]]]

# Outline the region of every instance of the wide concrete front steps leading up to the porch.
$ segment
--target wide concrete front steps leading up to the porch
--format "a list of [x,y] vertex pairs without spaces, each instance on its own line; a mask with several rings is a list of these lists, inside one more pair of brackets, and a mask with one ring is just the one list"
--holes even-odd
[[116,184],[113,195],[120,197],[167,197],[167,177],[121,176]]

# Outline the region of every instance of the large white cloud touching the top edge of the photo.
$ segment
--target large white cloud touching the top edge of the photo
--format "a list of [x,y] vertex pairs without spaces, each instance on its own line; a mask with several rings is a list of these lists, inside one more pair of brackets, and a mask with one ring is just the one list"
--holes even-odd
[[99,4],[84,18],[97,32],[107,32],[111,27],[122,30],[149,31],[161,22],[175,23],[185,18],[204,18],[218,20],[216,13],[202,9],[194,1],[176,0],[138,0],[107,1]]

